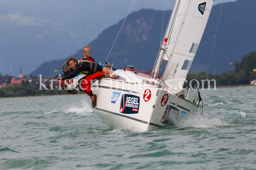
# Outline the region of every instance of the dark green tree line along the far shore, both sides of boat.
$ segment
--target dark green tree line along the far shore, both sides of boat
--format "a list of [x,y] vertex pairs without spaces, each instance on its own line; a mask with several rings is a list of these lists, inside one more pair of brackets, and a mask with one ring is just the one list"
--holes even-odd
[[[246,54],[241,62],[234,63],[234,71],[228,71],[222,74],[208,74],[207,79],[216,81],[216,85],[228,86],[228,85],[246,85],[250,84],[251,81],[256,79],[256,72],[253,70],[256,69],[256,51]],[[57,77],[57,76],[56,76]],[[66,90],[57,90],[58,85],[55,82],[53,85],[54,90],[38,90],[40,83],[36,77],[31,76],[32,82],[22,81],[21,84],[12,84],[10,81],[13,76],[1,75],[0,73],[0,84],[7,83],[5,87],[0,88],[0,97],[20,97],[20,96],[42,96],[42,95],[61,95],[68,94]],[[205,80],[206,72],[201,72],[198,74],[188,73],[187,74],[187,83],[185,82],[184,87],[189,86],[191,80],[198,80],[201,84],[201,80]],[[195,87],[196,81],[192,81],[192,87]],[[211,81],[210,85],[213,86],[214,82]],[[46,87],[50,89],[49,84],[46,84]],[[208,87],[206,82],[204,87]]]

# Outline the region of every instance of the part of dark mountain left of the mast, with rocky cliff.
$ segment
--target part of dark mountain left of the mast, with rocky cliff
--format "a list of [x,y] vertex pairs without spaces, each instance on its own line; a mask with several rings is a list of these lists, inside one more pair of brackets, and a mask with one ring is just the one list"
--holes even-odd
[[[171,10],[165,11],[163,25],[168,24],[170,15]],[[123,22],[124,19],[105,29],[95,40],[88,44],[96,62],[103,63],[106,60]],[[127,65],[134,65],[136,68],[143,70],[151,69],[161,42],[162,22],[163,11],[161,10],[142,9],[128,15],[107,62],[114,63],[116,69],[122,69]],[[163,26],[162,36],[165,27]],[[74,54],[74,56],[79,55],[83,56],[82,50]],[[143,56],[146,56],[146,59]],[[82,57],[77,58],[81,59]],[[54,70],[56,68],[60,69],[64,61],[67,61],[67,59],[44,62],[35,70],[36,72],[33,71],[29,75],[55,75]],[[57,62],[62,63],[56,65]],[[47,70],[45,69],[46,65]]]

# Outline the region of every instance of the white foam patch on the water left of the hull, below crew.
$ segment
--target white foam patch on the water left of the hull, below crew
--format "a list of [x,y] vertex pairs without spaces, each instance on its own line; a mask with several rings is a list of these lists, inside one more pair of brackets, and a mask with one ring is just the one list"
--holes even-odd
[[81,100],[80,103],[72,103],[69,106],[66,106],[66,109],[64,110],[65,113],[76,113],[79,115],[91,115],[93,114],[91,105],[84,100]]

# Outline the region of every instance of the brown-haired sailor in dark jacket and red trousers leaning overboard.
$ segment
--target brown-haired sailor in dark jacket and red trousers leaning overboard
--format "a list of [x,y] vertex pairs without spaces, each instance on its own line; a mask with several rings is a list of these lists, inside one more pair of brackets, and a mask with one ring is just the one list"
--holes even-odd
[[57,81],[72,79],[76,77],[78,74],[87,75],[86,78],[81,81],[81,89],[85,93],[87,93],[88,96],[90,96],[92,100],[92,107],[95,107],[97,102],[97,96],[93,95],[90,84],[92,84],[94,80],[100,80],[102,77],[104,77],[102,67],[92,61],[78,61],[74,57],[70,57],[67,60],[67,65],[71,67],[72,71],[63,77],[58,77]]

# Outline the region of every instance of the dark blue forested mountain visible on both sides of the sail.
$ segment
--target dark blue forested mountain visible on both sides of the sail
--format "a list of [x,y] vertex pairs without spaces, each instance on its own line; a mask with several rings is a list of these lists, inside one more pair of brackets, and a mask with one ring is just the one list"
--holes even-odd
[[[228,66],[230,62],[241,61],[244,54],[256,49],[256,1],[238,0],[236,2],[223,3],[219,27],[214,50],[212,53],[209,72],[222,73],[232,70]],[[207,70],[212,47],[215,40],[221,4],[214,5],[206,25],[205,32],[199,44],[195,59],[191,65],[190,72],[199,73]],[[164,12],[163,33],[165,32],[171,11]],[[99,63],[104,62],[115,41],[123,20],[105,29],[99,36],[88,45],[92,49],[92,57]],[[114,63],[114,68],[122,69],[124,66],[132,65],[135,69],[152,69],[161,40],[161,28],[163,11],[153,9],[142,9],[127,16],[123,28],[116,39],[111,53],[106,62]],[[189,36],[189,35],[188,35]],[[79,50],[74,56],[82,55]],[[80,59],[78,57],[78,59]],[[58,60],[59,63],[63,61]],[[55,64],[50,64],[50,63]],[[43,63],[39,66],[37,74],[53,75],[57,61],[48,62],[48,71]],[[50,67],[52,66],[52,67]]]

